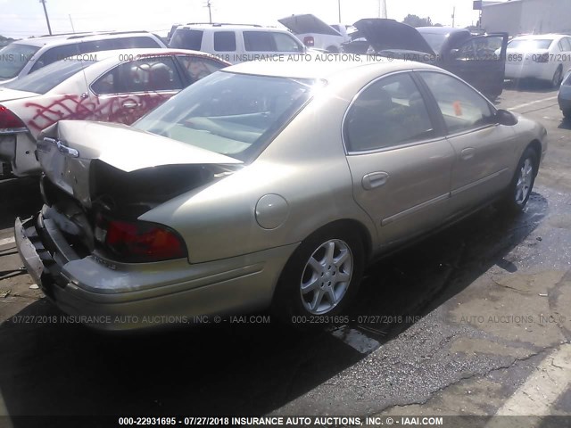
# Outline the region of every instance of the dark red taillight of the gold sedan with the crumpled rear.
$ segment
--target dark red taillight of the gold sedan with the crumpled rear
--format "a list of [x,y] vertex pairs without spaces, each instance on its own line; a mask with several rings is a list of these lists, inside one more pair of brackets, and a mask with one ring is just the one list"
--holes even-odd
[[[105,227],[106,226],[106,227]],[[169,259],[186,259],[186,245],[167,226],[145,221],[110,220],[103,226],[106,232],[95,231],[104,239],[107,250],[119,261],[141,263]]]

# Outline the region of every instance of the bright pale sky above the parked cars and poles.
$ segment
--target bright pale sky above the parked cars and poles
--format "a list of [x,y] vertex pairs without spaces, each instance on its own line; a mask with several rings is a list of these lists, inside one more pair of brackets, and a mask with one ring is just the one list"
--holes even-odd
[[[278,25],[276,20],[292,13],[313,13],[321,20],[338,20],[341,3],[343,23],[377,17],[379,0],[211,0],[212,21]],[[47,0],[52,30],[76,31],[147,29],[168,30],[174,23],[207,22],[206,0]],[[475,24],[478,13],[472,0],[386,0],[388,17],[398,21],[409,13],[430,17],[434,23],[451,25],[456,7],[456,26]],[[39,0],[0,0],[0,35],[29,37],[47,34],[46,18]]]

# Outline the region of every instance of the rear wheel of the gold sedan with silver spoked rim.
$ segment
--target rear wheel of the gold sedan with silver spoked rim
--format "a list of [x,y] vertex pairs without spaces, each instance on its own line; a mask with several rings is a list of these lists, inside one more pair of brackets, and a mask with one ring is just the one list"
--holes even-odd
[[[324,245],[330,248],[331,243],[335,246],[331,258],[334,262],[327,263]],[[342,259],[343,251],[348,252],[345,256],[348,259]],[[310,266],[311,259],[313,266]],[[315,268],[315,262],[321,269],[319,272]],[[321,316],[321,319],[326,320],[339,315],[356,295],[364,266],[365,251],[360,234],[356,230],[335,225],[319,229],[300,244],[285,264],[274,294],[272,312],[286,324],[301,328],[310,326],[303,322],[305,319]],[[343,281],[348,272],[348,281]],[[302,284],[313,283],[313,280],[315,284],[311,291],[302,293]],[[311,304],[318,300],[316,295],[319,292],[322,304],[311,310]],[[336,302],[332,300],[332,296],[335,296]]]

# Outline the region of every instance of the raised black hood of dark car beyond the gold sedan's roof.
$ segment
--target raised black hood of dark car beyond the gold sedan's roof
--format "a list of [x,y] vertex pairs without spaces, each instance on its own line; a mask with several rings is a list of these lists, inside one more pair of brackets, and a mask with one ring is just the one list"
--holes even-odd
[[360,35],[367,38],[375,51],[414,51],[434,55],[426,39],[410,25],[394,20],[367,18],[357,21],[353,26]]

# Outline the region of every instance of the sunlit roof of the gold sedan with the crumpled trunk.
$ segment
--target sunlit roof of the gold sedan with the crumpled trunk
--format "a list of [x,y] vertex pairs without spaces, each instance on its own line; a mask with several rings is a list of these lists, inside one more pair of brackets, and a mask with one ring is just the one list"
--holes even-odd
[[[324,56],[325,55],[325,56]],[[400,70],[441,70],[429,64],[420,62],[410,62],[402,60],[381,59],[372,60],[365,55],[335,55],[333,53],[312,55],[313,60],[309,61],[309,54],[305,55],[273,55],[276,61],[251,61],[242,62],[224,69],[224,71],[240,74],[252,74],[269,77],[282,78],[310,78],[325,79],[346,78],[348,73],[358,70],[361,67],[378,67],[382,73],[386,74]],[[283,57],[283,61],[278,61]],[[321,58],[318,60],[317,58]],[[335,58],[339,61],[335,61]],[[298,61],[295,61],[295,59]],[[348,58],[350,61],[341,61]],[[328,61],[327,61],[328,60]]]

